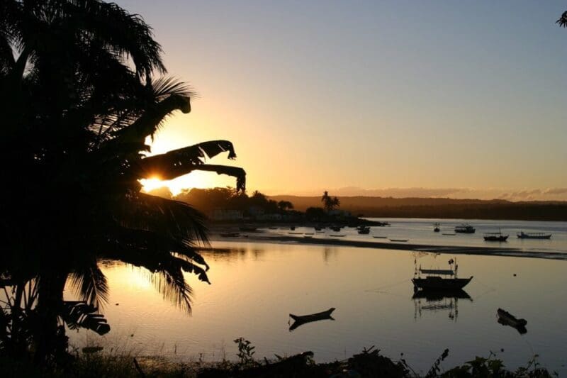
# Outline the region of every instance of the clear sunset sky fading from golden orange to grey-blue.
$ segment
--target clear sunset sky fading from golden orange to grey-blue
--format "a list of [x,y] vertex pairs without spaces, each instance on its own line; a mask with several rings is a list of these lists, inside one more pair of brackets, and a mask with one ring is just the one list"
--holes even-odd
[[117,3],[199,94],[155,153],[232,140],[268,194],[567,199],[565,1]]

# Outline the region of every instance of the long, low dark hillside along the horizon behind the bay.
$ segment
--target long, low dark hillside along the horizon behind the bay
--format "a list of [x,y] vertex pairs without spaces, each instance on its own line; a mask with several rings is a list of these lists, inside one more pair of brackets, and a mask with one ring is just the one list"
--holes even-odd
[[[296,210],[320,207],[320,196],[270,196],[290,201]],[[500,199],[339,197],[340,209],[354,215],[388,218],[518,219],[527,221],[567,221],[567,202],[510,202]]]

